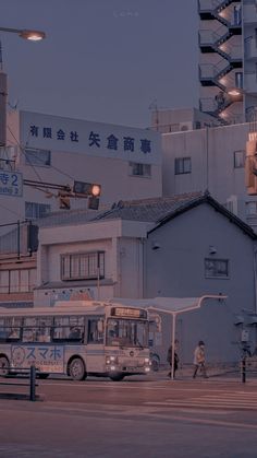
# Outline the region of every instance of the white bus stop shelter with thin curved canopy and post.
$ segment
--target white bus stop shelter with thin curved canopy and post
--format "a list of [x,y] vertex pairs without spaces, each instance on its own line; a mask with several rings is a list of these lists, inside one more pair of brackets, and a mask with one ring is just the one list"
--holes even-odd
[[161,312],[172,316],[172,356],[171,356],[171,378],[174,378],[174,351],[175,351],[175,329],[176,317],[186,312],[196,310],[200,308],[207,301],[218,301],[222,303],[227,296],[222,294],[205,294],[199,297],[154,297],[145,300],[113,297],[111,303],[119,303],[122,305],[143,307],[149,312]]

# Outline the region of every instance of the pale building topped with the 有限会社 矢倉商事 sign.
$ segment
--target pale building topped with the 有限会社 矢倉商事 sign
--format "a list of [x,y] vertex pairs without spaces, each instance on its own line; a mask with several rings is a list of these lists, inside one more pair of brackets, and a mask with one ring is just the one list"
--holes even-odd
[[[2,223],[59,210],[62,187],[73,190],[74,181],[99,184],[100,207],[161,196],[160,136],[147,129],[10,113],[7,148],[0,149]],[[71,198],[70,205],[85,209],[87,199]]]

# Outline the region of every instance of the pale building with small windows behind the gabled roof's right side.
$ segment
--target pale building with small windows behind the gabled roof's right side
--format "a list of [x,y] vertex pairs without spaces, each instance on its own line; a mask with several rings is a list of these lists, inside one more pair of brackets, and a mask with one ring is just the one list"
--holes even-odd
[[208,190],[256,230],[257,197],[247,193],[245,180],[250,129],[246,122],[163,133],[163,196]]

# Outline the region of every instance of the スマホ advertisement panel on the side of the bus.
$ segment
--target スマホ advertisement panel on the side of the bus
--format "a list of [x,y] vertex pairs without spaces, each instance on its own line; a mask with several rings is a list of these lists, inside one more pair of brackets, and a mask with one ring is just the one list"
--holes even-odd
[[33,365],[40,372],[64,372],[64,349],[61,345],[12,345],[11,360],[19,368]]

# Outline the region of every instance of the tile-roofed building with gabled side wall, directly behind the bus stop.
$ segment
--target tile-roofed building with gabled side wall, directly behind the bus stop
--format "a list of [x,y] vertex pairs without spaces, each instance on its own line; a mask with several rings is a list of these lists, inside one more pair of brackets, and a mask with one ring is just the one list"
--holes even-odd
[[[225,303],[180,317],[183,362],[192,363],[199,339],[208,342],[210,362],[236,361],[245,328],[255,349],[256,235],[208,195],[124,201],[91,221],[44,220],[35,306],[222,294]],[[156,349],[162,362],[170,341],[171,320],[163,316]]]

